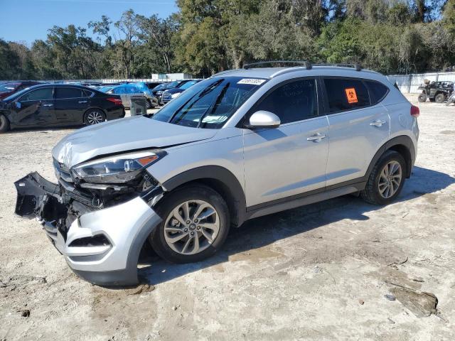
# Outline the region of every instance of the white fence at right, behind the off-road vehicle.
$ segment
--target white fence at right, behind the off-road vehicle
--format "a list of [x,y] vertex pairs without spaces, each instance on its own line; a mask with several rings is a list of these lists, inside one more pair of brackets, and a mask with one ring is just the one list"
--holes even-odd
[[397,83],[400,91],[406,94],[417,94],[417,88],[424,83],[424,80],[434,82],[452,81],[455,82],[455,72],[429,72],[414,73],[411,75],[389,75],[387,78],[392,84]]

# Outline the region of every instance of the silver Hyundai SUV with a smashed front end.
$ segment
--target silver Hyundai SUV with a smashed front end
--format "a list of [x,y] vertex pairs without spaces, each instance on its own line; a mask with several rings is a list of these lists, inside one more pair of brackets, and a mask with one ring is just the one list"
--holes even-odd
[[100,285],[137,283],[145,242],[200,261],[230,227],[331,197],[387,205],[411,175],[419,109],[360,67],[253,67],[199,82],[156,114],[75,131],[53,148],[58,184],[16,182],[68,265]]

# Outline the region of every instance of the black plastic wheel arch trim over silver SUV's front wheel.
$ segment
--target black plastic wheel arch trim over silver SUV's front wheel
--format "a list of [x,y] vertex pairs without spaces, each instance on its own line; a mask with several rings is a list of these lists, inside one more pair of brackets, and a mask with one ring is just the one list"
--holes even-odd
[[221,166],[202,166],[184,171],[166,182],[163,187],[170,192],[190,183],[208,185],[228,204],[231,224],[239,227],[246,220],[245,192],[239,180]]

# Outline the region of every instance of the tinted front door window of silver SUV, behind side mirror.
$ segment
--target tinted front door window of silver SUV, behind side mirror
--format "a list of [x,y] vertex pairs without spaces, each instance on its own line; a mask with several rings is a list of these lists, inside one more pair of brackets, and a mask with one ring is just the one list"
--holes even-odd
[[273,90],[255,107],[276,114],[281,123],[301,121],[318,113],[315,80],[296,80]]

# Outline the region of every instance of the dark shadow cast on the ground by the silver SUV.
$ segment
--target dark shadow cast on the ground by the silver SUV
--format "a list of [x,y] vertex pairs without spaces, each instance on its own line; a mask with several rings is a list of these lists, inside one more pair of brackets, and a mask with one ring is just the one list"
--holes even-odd
[[[446,173],[414,167],[412,176],[407,179],[397,202],[431,195],[453,183],[455,183],[455,178]],[[193,264],[170,264],[153,255],[153,251],[149,249],[146,256],[141,257],[140,264],[143,267],[139,269],[139,277],[144,278],[143,281],[146,283],[164,283],[194,271],[225,263],[230,260],[232,255],[265,247],[280,239],[308,232],[332,222],[343,219],[368,220],[369,217],[364,213],[374,210],[387,210],[387,208],[370,205],[360,197],[346,195],[259,217],[245,222],[238,229],[231,229],[223,248],[215,256],[205,261]]]

